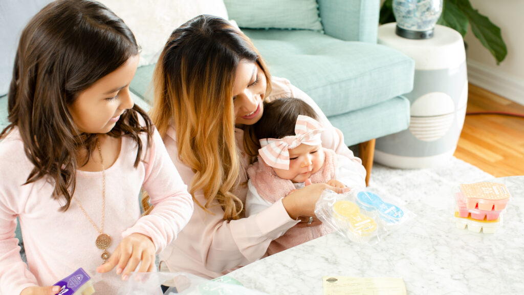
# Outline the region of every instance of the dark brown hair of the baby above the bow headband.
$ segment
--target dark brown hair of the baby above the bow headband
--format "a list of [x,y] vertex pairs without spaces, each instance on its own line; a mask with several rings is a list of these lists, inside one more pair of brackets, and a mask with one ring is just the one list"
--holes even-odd
[[317,119],[316,112],[305,101],[298,98],[280,98],[264,102],[262,118],[254,125],[257,139],[280,139],[294,132],[298,115],[306,115]]

